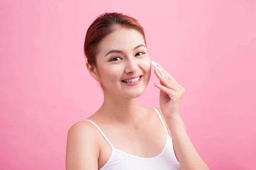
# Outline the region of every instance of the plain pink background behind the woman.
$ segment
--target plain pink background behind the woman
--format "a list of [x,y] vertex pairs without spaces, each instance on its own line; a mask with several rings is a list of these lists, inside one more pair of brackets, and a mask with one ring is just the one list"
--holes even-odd
[[[0,169],[64,170],[67,131],[102,104],[83,54],[88,26],[123,12],[152,60],[186,88],[181,114],[211,170],[255,170],[255,0],[0,2]],[[158,107],[152,74],[145,107]]]

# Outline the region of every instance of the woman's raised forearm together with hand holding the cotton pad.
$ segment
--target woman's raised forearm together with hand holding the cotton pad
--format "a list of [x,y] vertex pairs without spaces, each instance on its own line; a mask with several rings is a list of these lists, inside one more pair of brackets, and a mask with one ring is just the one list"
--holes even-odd
[[180,168],[181,170],[209,170],[190,141],[179,113],[185,88],[179,85],[161,65],[157,64],[157,66],[164,76],[155,68],[154,73],[159,78],[160,84],[154,82],[154,85],[160,89],[160,110],[172,134],[173,147],[180,162]]

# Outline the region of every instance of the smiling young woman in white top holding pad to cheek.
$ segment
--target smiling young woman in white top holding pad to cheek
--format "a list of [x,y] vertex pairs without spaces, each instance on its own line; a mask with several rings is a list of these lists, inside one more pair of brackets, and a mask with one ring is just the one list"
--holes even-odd
[[[104,102],[96,113],[70,127],[67,170],[208,170],[186,133],[179,113],[185,89],[167,73],[160,108],[143,108],[136,98],[151,76],[142,26],[119,13],[100,15],[84,42],[86,66],[100,82]],[[88,96],[89,97],[89,96]]]

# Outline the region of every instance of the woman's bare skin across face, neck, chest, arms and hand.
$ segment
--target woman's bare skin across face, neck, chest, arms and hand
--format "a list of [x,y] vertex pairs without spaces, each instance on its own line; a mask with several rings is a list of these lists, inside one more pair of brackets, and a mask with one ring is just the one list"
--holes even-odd
[[[90,75],[104,86],[104,102],[87,119],[101,128],[116,149],[139,157],[157,156],[163,150],[166,132],[155,111],[136,102],[151,77],[151,60],[143,36],[136,30],[116,27],[99,43],[98,49],[97,67],[88,63],[86,66]],[[111,50],[119,51],[108,54]],[[155,84],[160,89],[160,108],[157,109],[172,137],[181,170],[208,170],[193,147],[179,113],[185,89],[160,68],[165,77],[154,70],[161,82]],[[138,85],[128,86],[121,81],[138,75],[142,75]],[[111,151],[91,122],[79,121],[68,131],[66,170],[99,170]]]

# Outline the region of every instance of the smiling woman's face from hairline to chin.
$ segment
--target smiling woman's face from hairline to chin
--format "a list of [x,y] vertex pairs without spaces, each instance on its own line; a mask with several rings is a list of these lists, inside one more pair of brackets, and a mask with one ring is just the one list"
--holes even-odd
[[96,62],[96,73],[105,90],[129,98],[145,91],[151,60],[140,32],[117,28],[100,42]]

